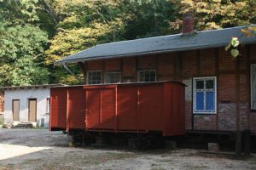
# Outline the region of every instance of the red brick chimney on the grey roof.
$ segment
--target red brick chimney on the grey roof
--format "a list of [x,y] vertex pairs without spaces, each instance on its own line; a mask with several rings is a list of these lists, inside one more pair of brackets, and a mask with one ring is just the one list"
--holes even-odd
[[183,31],[182,35],[191,35],[195,32],[194,30],[194,14],[192,12],[187,12],[183,14]]

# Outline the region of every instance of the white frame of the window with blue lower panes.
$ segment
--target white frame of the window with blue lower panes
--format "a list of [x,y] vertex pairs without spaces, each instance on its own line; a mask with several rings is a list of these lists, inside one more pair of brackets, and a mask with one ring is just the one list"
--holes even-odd
[[[213,80],[213,90],[214,90],[214,111],[196,111],[196,83],[195,81],[202,80],[206,82],[207,80]],[[203,89],[203,92],[206,90]],[[212,91],[212,90],[209,90]],[[217,113],[217,77],[195,77],[193,78],[193,87],[192,87],[192,93],[193,93],[193,114],[216,114]],[[206,102],[206,99],[204,99],[204,102]]]

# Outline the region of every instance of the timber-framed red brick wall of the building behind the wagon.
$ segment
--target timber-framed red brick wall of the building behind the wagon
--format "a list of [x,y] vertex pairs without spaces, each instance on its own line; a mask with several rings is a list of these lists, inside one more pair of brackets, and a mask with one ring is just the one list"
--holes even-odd
[[[254,47],[255,46],[255,47]],[[250,59],[256,63],[256,45],[250,48]],[[251,129],[256,133],[256,113],[251,113],[247,121],[249,102],[247,94],[247,60],[246,48],[241,48],[239,59],[240,99],[236,99],[236,59],[224,48],[209,48],[188,52],[152,54],[123,59],[106,59],[88,61],[88,70],[121,71],[122,82],[137,82],[137,71],[155,69],[158,81],[180,80],[185,88],[185,127],[195,130],[236,130],[236,108],[239,108],[240,128]],[[180,60],[178,60],[180,59]],[[180,63],[179,63],[180,62]],[[102,74],[104,76],[104,74]],[[177,78],[179,77],[179,78]],[[217,77],[218,103],[216,114],[199,115],[192,113],[192,80],[193,77]],[[239,100],[239,105],[236,101]],[[192,120],[194,117],[194,120]],[[192,124],[194,122],[194,124]]]

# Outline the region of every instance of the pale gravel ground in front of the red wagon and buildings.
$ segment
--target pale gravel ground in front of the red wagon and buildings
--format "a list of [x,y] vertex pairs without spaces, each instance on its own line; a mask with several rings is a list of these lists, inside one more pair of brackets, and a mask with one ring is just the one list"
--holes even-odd
[[0,170],[9,169],[256,169],[256,156],[201,150],[136,151],[104,146],[68,147],[67,135],[46,129],[0,129]]

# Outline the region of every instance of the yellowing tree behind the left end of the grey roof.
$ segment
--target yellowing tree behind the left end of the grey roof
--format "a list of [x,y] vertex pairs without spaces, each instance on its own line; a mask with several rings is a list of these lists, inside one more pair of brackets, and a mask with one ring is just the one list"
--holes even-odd
[[[121,1],[56,0],[53,3],[55,14],[60,18],[57,33],[46,51],[45,63],[49,65],[51,80],[62,83],[77,83],[67,75],[61,66],[54,65],[58,59],[90,48],[98,43],[122,40],[124,26],[117,16]],[[79,72],[78,67],[71,68]]]

